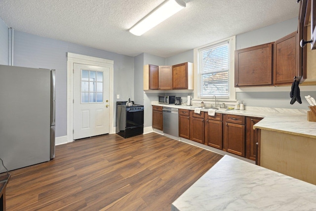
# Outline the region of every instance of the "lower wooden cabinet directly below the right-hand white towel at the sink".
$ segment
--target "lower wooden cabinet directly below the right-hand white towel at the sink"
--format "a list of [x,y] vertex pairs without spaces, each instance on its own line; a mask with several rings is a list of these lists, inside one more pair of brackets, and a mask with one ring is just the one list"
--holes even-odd
[[204,143],[205,145],[222,149],[223,148],[223,115],[216,113],[215,116],[204,115]]

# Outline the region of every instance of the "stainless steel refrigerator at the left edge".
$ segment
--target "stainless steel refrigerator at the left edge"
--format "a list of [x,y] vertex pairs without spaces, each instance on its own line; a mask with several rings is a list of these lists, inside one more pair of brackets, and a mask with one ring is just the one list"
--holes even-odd
[[[55,70],[0,65],[0,158],[8,170],[55,157]],[[0,163],[0,173],[6,171]]]

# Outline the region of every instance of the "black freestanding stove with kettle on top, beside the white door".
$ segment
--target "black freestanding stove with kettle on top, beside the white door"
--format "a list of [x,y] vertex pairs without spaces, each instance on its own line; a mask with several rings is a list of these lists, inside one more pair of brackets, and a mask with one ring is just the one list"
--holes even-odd
[[118,135],[128,138],[144,132],[144,106],[134,104],[127,105],[128,101],[117,102],[117,124]]

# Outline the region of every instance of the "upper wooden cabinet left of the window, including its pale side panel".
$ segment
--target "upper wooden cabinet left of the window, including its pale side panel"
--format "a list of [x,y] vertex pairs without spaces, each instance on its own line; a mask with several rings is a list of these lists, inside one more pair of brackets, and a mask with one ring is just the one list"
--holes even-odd
[[186,62],[172,66],[172,89],[194,89],[193,63]]

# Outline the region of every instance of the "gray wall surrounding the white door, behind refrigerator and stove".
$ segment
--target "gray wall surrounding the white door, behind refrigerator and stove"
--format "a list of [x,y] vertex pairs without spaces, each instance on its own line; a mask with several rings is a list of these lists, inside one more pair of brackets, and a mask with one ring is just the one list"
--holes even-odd
[[134,98],[134,57],[15,31],[14,66],[56,70],[56,137],[67,134],[67,52],[114,60],[113,100]]

